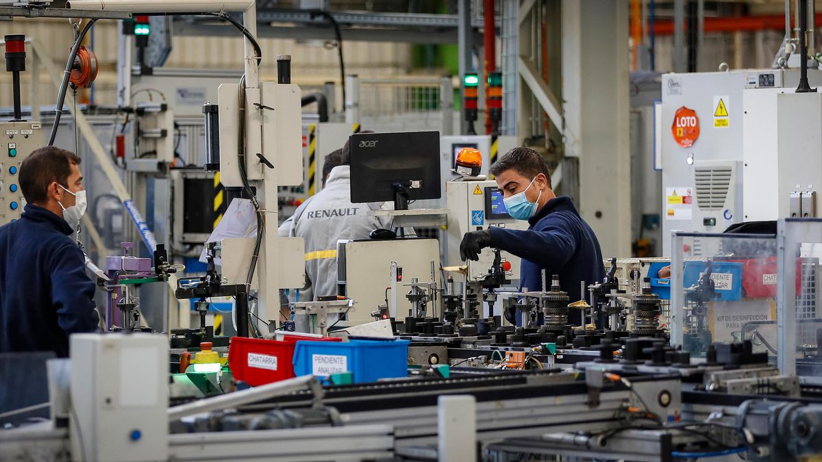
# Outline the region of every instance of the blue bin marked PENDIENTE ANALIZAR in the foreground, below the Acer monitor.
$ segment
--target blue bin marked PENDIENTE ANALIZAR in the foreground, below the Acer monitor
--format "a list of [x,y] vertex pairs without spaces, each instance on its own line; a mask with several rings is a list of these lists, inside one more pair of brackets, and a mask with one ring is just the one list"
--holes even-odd
[[343,343],[299,341],[294,373],[328,377],[351,372],[354,383],[408,377],[409,340],[351,340]]

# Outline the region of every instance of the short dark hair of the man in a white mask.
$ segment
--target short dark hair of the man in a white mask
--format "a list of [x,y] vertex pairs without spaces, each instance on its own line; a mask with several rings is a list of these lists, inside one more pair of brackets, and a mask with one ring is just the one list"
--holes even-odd
[[68,187],[72,164],[80,165],[80,156],[55,146],[35,149],[20,165],[20,190],[30,204],[48,199],[48,185],[58,182]]

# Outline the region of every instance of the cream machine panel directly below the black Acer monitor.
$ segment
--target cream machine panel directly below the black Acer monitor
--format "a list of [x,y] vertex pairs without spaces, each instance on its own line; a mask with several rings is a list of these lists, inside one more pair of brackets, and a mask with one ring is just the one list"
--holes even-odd
[[[402,268],[401,280],[396,280],[392,262]],[[440,247],[436,239],[397,238],[340,242],[337,251],[337,279],[345,284],[345,294],[357,304],[349,312],[349,324],[373,321],[371,312],[389,303],[390,315],[397,319],[408,316],[411,303],[405,294],[414,278],[419,282],[440,282]],[[396,288],[395,293],[389,288]],[[387,295],[386,295],[387,293]],[[429,303],[429,312],[431,304]],[[438,309],[437,309],[438,311]]]

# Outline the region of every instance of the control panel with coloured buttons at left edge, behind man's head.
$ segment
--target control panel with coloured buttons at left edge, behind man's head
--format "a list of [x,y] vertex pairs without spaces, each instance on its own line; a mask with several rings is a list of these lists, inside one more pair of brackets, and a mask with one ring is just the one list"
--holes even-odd
[[0,122],[0,225],[20,218],[25,206],[20,189],[20,164],[43,146],[40,122]]

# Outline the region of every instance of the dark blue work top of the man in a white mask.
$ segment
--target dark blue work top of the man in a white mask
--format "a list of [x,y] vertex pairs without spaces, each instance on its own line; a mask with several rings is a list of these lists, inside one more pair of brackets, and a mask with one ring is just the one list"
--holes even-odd
[[0,227],[0,353],[68,356],[68,336],[97,330],[95,283],[61,216],[28,204]]

